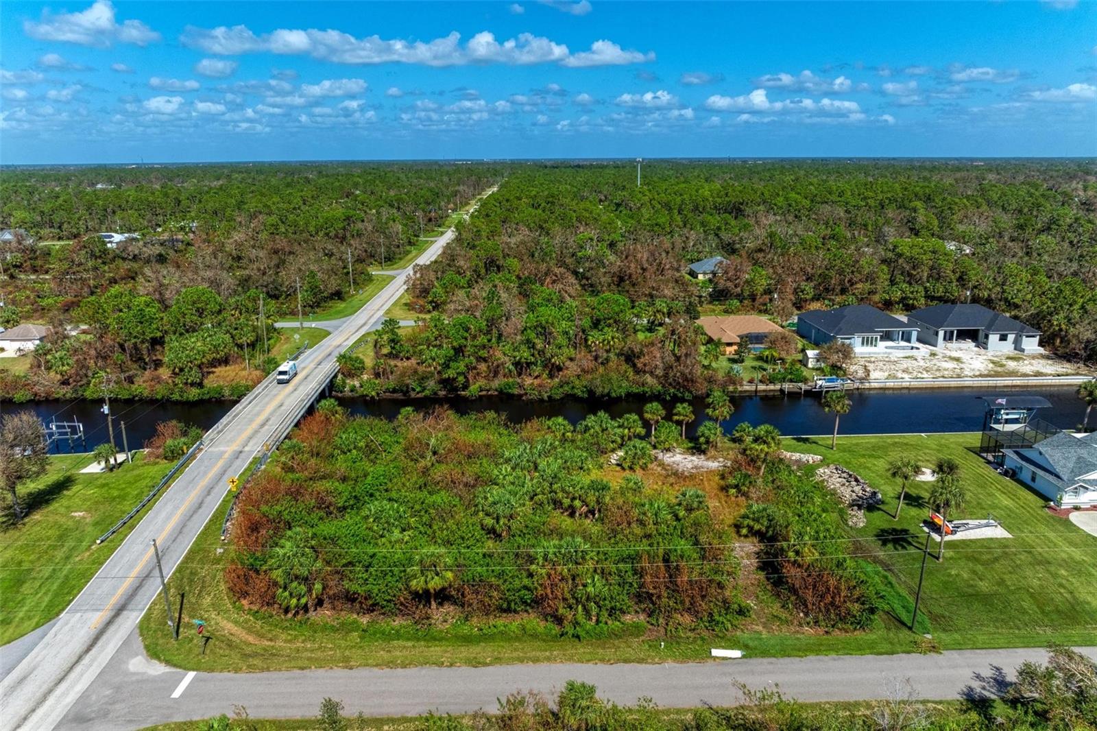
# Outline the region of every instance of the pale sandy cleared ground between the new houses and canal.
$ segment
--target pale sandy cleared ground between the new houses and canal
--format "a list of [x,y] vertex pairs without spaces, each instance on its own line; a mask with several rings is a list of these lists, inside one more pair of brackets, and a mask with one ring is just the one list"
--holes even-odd
[[1008,378],[1010,375],[1097,374],[1054,356],[1024,356],[982,349],[929,350],[920,357],[858,358],[871,379]]

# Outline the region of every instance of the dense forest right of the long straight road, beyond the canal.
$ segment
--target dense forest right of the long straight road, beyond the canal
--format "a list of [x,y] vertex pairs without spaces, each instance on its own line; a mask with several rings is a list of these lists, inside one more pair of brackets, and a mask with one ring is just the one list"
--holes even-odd
[[[680,359],[704,304],[783,320],[970,300],[1042,329],[1063,355],[1097,358],[1095,180],[1084,162],[668,162],[637,188],[631,166],[528,166],[417,274],[416,306],[444,319],[407,355],[453,385],[457,323],[483,342],[462,353],[459,382],[591,390],[612,373],[695,390],[711,380],[704,363],[664,363]],[[727,259],[712,281],[683,275],[711,256]],[[622,316],[607,322],[610,302]]]

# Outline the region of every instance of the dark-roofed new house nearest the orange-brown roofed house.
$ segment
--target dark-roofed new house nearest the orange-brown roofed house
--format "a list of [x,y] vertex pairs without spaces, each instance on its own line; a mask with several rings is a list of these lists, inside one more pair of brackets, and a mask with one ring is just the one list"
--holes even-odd
[[796,333],[815,345],[844,340],[859,356],[911,355],[918,328],[872,305],[810,310],[796,318]]

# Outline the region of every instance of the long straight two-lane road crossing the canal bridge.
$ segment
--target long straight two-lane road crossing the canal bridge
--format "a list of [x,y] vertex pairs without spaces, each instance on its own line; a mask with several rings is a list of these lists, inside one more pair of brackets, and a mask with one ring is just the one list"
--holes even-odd
[[[432,261],[453,238],[439,237],[416,260]],[[410,268],[298,360],[289,384],[273,376],[257,386],[206,435],[204,448],[37,644],[0,681],[0,729],[53,729],[129,636],[157,598],[151,541],[170,575],[228,490],[264,445],[328,382],[335,359],[384,318],[406,288]],[[25,649],[25,648],[24,648]],[[111,715],[101,717],[111,719]],[[117,728],[113,719],[98,728]]]

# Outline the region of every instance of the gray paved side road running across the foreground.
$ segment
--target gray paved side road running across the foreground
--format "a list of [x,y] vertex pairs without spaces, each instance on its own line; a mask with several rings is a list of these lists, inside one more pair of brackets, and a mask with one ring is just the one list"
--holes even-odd
[[[1083,652],[1097,660],[1097,648]],[[747,659],[663,665],[497,665],[326,670],[286,673],[197,673],[179,697],[189,673],[150,661],[134,632],[72,707],[58,728],[100,731],[138,729],[233,712],[244,706],[256,718],[316,716],[320,700],[346,704],[348,713],[410,716],[437,710],[495,711],[496,699],[514,690],[557,693],[569,679],[598,686],[619,704],[649,696],[665,708],[705,702],[733,705],[739,681],[751,688],[780,687],[799,700],[873,700],[889,683],[909,678],[918,698],[942,700],[999,691],[1025,660],[1043,662],[1039,649],[962,650],[940,655],[828,655]],[[104,719],[110,723],[104,726]]]

